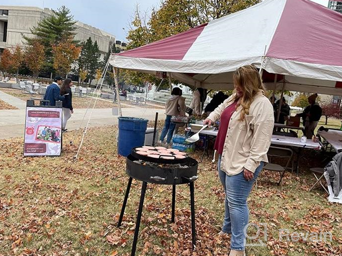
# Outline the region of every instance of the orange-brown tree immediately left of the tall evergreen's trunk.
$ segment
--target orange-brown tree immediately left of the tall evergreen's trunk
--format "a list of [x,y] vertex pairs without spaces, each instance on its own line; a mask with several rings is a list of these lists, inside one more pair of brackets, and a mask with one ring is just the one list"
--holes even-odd
[[26,47],[25,64],[37,77],[45,62],[44,46],[38,40]]

